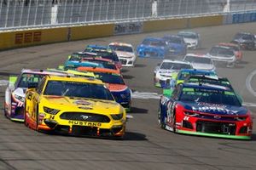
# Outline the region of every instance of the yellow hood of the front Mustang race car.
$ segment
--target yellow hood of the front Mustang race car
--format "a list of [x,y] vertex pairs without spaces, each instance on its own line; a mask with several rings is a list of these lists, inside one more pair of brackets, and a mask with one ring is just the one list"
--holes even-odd
[[[87,110],[101,113],[119,112],[120,105],[113,100],[73,98],[65,96],[45,96],[45,106],[64,111]],[[43,103],[43,102],[41,102]],[[49,105],[47,105],[49,104]]]

